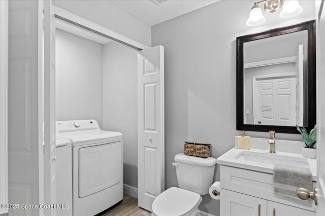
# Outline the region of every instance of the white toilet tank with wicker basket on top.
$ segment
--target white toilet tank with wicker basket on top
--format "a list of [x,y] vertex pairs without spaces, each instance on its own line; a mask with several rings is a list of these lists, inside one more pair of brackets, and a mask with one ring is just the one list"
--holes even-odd
[[175,155],[178,187],[196,192],[200,195],[209,193],[213,182],[214,166],[217,160],[213,157],[202,158],[179,153]]

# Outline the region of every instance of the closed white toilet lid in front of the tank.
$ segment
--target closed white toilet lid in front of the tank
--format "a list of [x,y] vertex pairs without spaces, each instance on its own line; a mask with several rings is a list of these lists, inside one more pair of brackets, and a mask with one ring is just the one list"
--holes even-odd
[[161,193],[152,203],[155,215],[184,215],[201,202],[200,194],[172,187]]

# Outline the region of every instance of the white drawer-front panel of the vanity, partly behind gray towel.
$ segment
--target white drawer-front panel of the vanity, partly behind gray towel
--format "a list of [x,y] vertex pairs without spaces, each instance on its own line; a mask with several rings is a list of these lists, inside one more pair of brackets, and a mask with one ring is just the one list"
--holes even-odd
[[310,199],[300,200],[274,194],[273,175],[266,172],[221,165],[220,184],[223,189],[316,211],[316,206]]

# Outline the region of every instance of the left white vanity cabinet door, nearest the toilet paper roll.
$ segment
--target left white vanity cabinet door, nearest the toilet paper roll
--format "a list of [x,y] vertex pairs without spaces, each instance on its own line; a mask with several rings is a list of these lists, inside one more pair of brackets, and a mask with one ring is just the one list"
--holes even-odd
[[266,216],[267,200],[221,189],[220,215]]

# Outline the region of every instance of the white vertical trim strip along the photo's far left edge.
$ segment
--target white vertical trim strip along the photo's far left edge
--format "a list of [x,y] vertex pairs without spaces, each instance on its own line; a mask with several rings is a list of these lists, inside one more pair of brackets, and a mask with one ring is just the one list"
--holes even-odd
[[[0,1],[0,203],[8,204],[8,0]],[[8,208],[0,207],[0,214]]]

